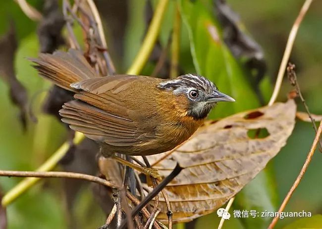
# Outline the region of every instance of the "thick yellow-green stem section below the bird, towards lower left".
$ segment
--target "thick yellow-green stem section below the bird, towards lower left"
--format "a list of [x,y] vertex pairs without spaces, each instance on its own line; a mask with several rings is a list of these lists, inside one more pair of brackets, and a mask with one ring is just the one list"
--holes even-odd
[[[74,144],[78,144],[84,139],[84,135],[76,132],[75,137],[73,139]],[[46,172],[53,170],[57,163],[64,157],[67,150],[69,149],[70,143],[66,141],[63,143],[57,151],[46,161],[44,162],[38,169],[38,172]],[[8,206],[12,201],[14,201],[18,196],[20,196],[23,192],[25,192],[28,188],[38,182],[40,178],[26,178],[10,189],[2,198],[1,204],[2,206]]]

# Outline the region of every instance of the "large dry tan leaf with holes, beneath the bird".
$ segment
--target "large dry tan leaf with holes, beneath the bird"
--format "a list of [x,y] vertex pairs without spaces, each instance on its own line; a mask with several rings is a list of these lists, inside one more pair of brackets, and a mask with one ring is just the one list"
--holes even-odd
[[[294,128],[295,113],[296,105],[289,100],[229,116],[205,125],[154,165],[162,177],[166,177],[177,162],[184,168],[164,188],[173,222],[187,222],[214,212],[239,192],[286,144]],[[259,129],[267,130],[267,135],[259,133]],[[151,155],[148,159],[153,165],[164,154]],[[108,173],[104,174],[111,178]],[[147,185],[145,188],[151,190]],[[161,193],[159,197],[161,212],[157,218],[167,222]]]

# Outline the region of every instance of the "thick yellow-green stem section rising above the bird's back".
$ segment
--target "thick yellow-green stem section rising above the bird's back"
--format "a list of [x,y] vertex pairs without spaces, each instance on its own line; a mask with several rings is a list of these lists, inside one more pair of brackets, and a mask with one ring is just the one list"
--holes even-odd
[[145,63],[147,62],[153,47],[157,41],[159,35],[161,22],[164,16],[164,12],[169,0],[159,0],[156,11],[153,15],[151,24],[149,26],[148,32],[144,38],[143,44],[135,57],[131,67],[127,71],[129,75],[138,75],[143,69]]

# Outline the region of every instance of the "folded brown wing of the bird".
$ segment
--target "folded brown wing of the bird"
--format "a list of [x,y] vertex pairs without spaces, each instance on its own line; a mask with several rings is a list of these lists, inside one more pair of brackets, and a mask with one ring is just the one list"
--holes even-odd
[[91,139],[113,146],[131,146],[154,137],[153,127],[141,129],[141,120],[131,115],[135,112],[129,106],[131,98],[125,91],[133,92],[135,81],[148,78],[116,75],[71,84],[79,91],[74,97],[81,101],[73,100],[63,105],[59,112],[62,121]]

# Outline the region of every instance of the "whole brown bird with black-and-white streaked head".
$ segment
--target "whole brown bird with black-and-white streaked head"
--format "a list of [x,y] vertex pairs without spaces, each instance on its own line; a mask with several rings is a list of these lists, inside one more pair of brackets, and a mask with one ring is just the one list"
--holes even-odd
[[101,143],[104,156],[151,155],[173,149],[200,127],[219,101],[235,101],[203,76],[162,80],[100,77],[76,50],[31,59],[40,75],[75,92],[59,114],[74,131]]

